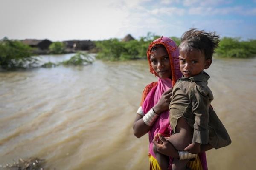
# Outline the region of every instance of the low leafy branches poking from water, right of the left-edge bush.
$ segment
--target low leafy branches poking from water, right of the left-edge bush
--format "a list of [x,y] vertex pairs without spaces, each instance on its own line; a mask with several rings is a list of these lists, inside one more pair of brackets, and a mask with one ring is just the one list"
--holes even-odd
[[69,60],[61,62],[63,65],[87,65],[93,63],[93,57],[88,53],[77,52]]

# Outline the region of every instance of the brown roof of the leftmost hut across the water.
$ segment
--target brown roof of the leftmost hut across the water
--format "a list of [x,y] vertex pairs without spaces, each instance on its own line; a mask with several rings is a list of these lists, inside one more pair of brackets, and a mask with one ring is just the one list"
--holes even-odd
[[52,43],[50,40],[36,40],[36,39],[25,39],[21,40],[23,44],[29,45],[30,47],[40,48],[41,50],[47,50],[49,45]]

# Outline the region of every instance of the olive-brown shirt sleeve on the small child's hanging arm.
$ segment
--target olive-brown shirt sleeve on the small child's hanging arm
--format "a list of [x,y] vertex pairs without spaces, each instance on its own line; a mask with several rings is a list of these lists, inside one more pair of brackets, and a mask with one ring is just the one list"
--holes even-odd
[[191,92],[192,114],[195,115],[192,142],[208,144],[209,141],[209,106],[213,99],[207,85],[195,85]]

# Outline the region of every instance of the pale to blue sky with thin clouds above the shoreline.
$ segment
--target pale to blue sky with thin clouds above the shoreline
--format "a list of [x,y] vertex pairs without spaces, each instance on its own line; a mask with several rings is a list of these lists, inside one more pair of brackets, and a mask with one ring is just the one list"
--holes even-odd
[[0,0],[0,39],[181,37],[189,28],[256,39],[256,0]]

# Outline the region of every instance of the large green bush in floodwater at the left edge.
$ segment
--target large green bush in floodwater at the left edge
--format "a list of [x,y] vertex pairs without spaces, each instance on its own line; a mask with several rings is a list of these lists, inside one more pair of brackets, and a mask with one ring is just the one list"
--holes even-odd
[[9,68],[28,68],[37,64],[38,59],[31,57],[32,48],[20,41],[9,40],[7,37],[0,40],[0,66]]

